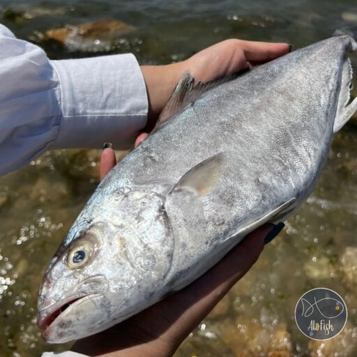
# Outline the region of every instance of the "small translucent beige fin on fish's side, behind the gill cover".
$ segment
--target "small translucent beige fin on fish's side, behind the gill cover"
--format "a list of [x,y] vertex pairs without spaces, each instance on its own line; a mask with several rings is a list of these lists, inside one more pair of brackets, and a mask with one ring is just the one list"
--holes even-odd
[[169,192],[187,191],[197,196],[206,196],[218,187],[224,163],[224,153],[211,156],[186,172]]

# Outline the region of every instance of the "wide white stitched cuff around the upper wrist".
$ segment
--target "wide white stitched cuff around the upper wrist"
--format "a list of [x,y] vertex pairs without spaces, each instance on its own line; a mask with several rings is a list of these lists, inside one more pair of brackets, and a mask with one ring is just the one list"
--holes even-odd
[[61,84],[59,135],[53,149],[128,149],[146,125],[148,98],[132,54],[51,61]]

